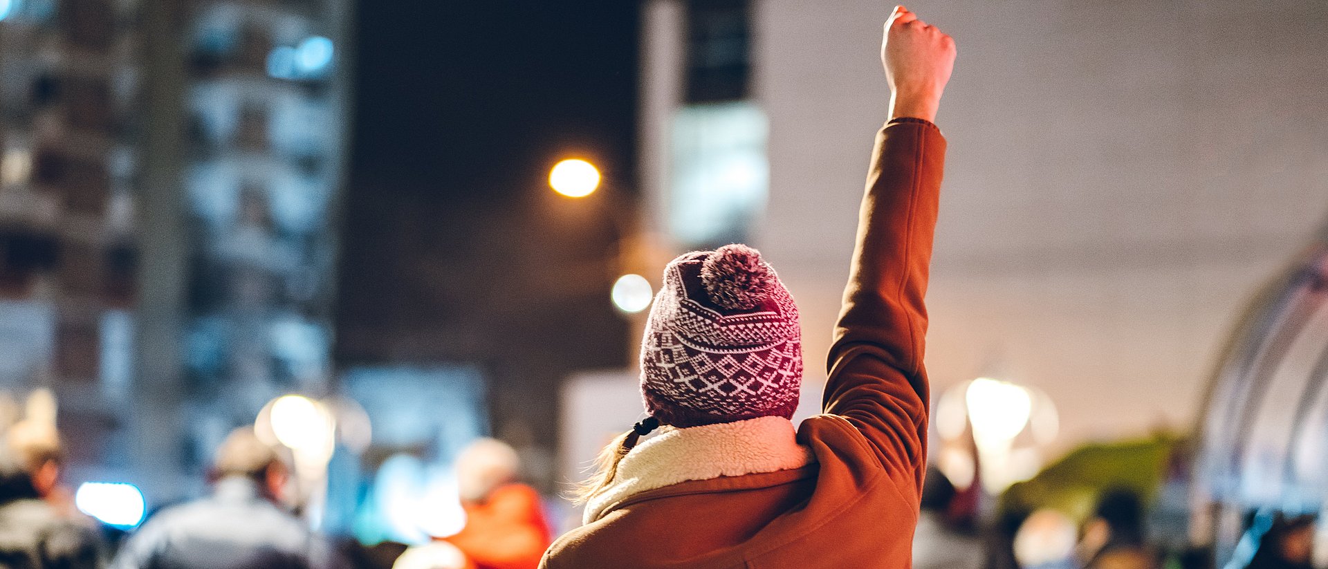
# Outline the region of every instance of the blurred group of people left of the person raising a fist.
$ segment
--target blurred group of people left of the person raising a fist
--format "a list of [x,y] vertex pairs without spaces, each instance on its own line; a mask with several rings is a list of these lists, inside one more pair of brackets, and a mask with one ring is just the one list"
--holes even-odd
[[0,568],[5,569],[534,569],[551,541],[518,455],[479,439],[456,462],[465,527],[428,544],[364,546],[311,529],[292,504],[291,462],[252,427],[216,448],[206,496],[153,512],[127,535],[74,505],[60,435],[20,420],[0,440]]

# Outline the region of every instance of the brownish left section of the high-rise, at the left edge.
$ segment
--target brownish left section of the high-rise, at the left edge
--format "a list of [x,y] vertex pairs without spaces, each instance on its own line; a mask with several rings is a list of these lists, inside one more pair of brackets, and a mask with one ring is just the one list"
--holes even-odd
[[133,382],[138,17],[0,3],[0,390],[53,389],[84,464],[114,460]]

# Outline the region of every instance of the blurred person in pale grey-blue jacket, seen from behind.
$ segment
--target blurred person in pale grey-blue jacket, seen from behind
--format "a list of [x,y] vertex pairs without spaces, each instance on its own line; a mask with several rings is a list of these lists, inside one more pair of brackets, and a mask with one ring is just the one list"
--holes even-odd
[[149,519],[114,569],[321,569],[339,566],[331,546],[284,505],[288,468],[252,428],[216,451],[212,493]]

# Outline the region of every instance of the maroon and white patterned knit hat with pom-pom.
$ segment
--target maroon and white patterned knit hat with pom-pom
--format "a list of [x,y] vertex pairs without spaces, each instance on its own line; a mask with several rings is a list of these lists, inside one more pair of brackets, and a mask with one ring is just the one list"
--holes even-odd
[[641,397],[675,427],[793,416],[802,383],[798,308],[761,253],[725,245],[664,268],[641,341]]

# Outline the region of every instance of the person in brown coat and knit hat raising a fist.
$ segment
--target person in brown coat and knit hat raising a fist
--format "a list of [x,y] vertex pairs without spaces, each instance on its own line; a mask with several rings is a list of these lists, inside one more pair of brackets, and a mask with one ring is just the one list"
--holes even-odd
[[761,255],[733,244],[675,259],[641,342],[648,416],[606,448],[583,492],[586,524],[542,566],[910,566],[927,456],[923,296],[946,155],[934,119],[955,44],[898,7],[882,60],[890,118],[862,200],[825,414],[797,430],[790,420],[798,309]]

